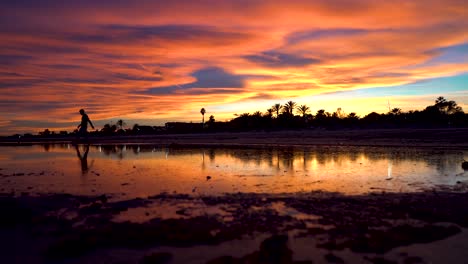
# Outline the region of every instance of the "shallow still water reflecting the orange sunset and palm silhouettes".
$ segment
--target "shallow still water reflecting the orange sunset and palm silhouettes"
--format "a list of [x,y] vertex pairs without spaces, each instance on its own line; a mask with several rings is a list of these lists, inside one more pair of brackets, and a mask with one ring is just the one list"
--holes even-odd
[[[149,145],[1,147],[1,192],[222,194],[411,192],[455,185],[463,151],[406,148],[166,149]],[[211,178],[208,180],[207,176]]]

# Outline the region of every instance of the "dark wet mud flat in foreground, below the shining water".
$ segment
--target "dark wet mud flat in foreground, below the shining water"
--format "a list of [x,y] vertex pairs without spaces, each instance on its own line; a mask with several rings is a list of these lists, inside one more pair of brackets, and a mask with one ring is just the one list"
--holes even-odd
[[[2,263],[463,263],[468,193],[0,196]],[[458,261],[457,261],[458,260]]]

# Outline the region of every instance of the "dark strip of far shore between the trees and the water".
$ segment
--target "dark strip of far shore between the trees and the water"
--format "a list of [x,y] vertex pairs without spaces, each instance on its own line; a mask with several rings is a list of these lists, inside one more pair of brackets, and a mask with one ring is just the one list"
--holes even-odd
[[30,144],[153,144],[159,146],[378,146],[468,149],[468,129],[299,130],[145,136],[0,139],[0,146]]

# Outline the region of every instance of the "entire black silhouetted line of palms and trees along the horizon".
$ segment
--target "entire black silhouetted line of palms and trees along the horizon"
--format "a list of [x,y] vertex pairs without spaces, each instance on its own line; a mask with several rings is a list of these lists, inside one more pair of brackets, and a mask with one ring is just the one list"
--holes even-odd
[[[115,124],[105,124],[102,129],[91,131],[94,136],[113,135],[150,135],[166,133],[202,133],[236,131],[274,131],[291,129],[382,129],[382,128],[452,128],[468,127],[468,114],[452,100],[438,97],[433,105],[424,110],[404,112],[400,108],[390,109],[387,113],[371,112],[363,117],[355,112],[346,114],[341,108],[335,112],[324,109],[311,113],[307,105],[298,105],[294,101],[274,104],[265,112],[243,113],[230,121],[218,122],[210,115],[205,122],[205,108],[200,110],[201,123],[168,122],[165,126],[147,126],[134,124],[127,127],[122,119]],[[58,133],[45,129],[39,136],[67,136],[74,132]],[[25,135],[27,136],[27,135]]]

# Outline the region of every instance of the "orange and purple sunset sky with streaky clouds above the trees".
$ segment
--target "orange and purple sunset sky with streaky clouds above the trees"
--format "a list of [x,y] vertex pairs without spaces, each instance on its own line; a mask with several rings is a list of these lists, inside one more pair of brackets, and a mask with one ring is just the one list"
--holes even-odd
[[468,110],[466,0],[0,3],[0,135],[334,112]]

